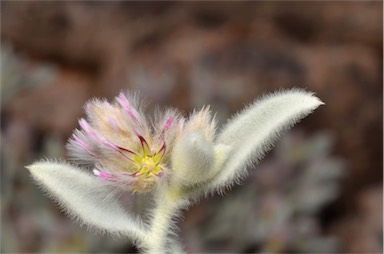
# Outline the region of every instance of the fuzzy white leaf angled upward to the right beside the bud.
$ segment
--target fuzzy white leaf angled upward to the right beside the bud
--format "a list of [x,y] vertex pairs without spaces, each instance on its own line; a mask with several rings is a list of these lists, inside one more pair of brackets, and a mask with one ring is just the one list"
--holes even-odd
[[281,133],[324,104],[312,93],[288,90],[266,96],[235,116],[218,135],[217,143],[232,147],[211,187],[232,184],[269,151]]

